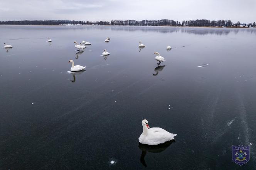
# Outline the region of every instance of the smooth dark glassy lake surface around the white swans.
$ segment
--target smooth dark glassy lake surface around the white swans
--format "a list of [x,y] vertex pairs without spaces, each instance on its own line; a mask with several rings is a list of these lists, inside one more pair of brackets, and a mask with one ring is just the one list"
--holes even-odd
[[[256,29],[0,26],[13,45],[0,50],[0,169],[255,170],[255,39]],[[92,45],[76,55],[75,40]],[[86,71],[68,73],[70,59]],[[139,145],[143,119],[175,141]],[[251,147],[241,167],[240,144]]]

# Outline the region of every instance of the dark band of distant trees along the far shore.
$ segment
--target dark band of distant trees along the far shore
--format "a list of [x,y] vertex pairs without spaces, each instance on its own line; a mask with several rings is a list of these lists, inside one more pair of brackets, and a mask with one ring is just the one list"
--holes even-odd
[[[241,23],[231,22],[231,20],[111,20],[108,21],[75,21],[75,20],[23,20],[23,21],[0,21],[0,24],[5,25],[141,25],[141,26],[189,26],[189,27],[239,27]],[[244,27],[255,27],[255,22],[244,24]]]

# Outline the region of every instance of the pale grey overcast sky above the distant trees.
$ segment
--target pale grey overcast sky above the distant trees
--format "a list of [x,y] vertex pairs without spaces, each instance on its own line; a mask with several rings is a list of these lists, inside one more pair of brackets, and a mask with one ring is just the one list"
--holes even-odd
[[256,0],[0,0],[0,20],[256,22]]

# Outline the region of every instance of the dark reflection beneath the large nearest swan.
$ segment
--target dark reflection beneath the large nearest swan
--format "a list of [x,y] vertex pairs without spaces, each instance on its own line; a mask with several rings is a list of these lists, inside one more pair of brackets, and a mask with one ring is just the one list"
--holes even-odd
[[145,167],[147,167],[147,164],[144,159],[147,154],[147,151],[151,152],[151,153],[160,153],[160,152],[164,151],[166,148],[168,148],[174,142],[175,142],[175,140],[171,140],[171,141],[167,141],[165,143],[159,144],[159,145],[146,145],[146,144],[139,143],[138,147],[142,151],[141,156],[140,156],[141,164],[144,165]]

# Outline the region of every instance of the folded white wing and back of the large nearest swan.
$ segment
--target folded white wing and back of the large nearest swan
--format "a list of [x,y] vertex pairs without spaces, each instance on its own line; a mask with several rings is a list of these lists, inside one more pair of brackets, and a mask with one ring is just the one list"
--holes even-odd
[[162,128],[150,128],[143,142],[148,145],[158,145],[173,140],[174,136],[176,136],[176,134],[172,134]]

